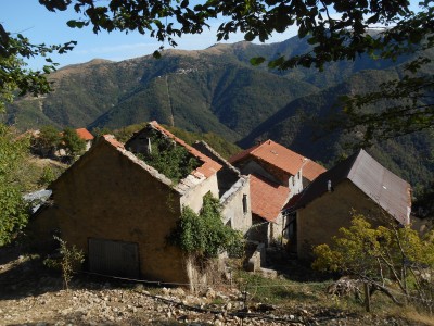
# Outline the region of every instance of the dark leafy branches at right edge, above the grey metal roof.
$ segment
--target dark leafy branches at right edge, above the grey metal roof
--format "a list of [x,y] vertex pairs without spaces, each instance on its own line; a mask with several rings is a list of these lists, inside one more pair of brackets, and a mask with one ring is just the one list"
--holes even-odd
[[[344,109],[333,116],[332,127],[352,131],[361,126],[362,146],[433,128],[433,75],[405,71],[401,79],[382,83],[378,91],[343,96]],[[366,110],[369,106],[375,110]]]

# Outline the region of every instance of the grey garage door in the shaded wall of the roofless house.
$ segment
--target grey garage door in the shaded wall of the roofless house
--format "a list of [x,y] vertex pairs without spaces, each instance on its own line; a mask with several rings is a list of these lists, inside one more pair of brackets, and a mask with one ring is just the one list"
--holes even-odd
[[89,269],[104,275],[139,277],[138,244],[90,238]]

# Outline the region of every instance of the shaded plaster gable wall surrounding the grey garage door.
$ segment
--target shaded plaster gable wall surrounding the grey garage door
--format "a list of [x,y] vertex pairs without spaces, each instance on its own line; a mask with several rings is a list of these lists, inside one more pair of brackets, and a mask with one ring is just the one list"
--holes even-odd
[[92,148],[53,186],[54,205],[35,218],[49,236],[58,221],[62,238],[88,252],[88,239],[137,242],[141,276],[188,283],[181,252],[166,244],[180,216],[180,196],[108,143]]

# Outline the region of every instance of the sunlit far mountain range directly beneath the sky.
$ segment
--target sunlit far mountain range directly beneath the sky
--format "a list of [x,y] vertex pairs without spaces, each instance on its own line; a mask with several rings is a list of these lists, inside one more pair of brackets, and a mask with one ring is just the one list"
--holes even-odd
[[248,62],[258,55],[297,54],[308,47],[291,38],[272,45],[238,42],[201,51],[168,50],[161,60],[146,55],[71,65],[52,75],[52,93],[10,105],[8,121],[24,129],[46,124],[120,127],[149,120],[171,124],[174,120],[186,129],[238,140],[299,97],[342,83],[361,68],[396,64],[360,58],[329,64],[319,74],[307,68],[270,71]]

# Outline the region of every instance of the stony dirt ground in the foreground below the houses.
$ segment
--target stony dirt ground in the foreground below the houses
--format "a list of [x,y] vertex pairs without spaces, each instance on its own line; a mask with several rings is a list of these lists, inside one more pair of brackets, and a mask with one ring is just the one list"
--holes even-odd
[[81,274],[65,290],[39,256],[20,252],[0,249],[0,325],[429,325],[302,302],[245,304],[237,288],[190,293]]

